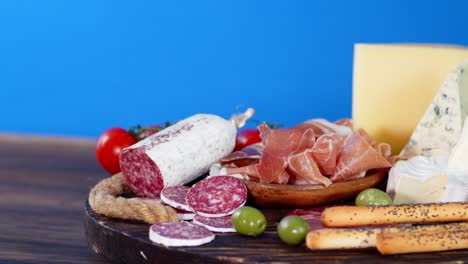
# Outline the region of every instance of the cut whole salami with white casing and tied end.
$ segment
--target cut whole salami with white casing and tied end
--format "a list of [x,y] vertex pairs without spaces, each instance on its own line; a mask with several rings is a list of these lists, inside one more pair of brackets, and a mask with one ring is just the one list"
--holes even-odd
[[165,186],[183,185],[208,172],[232,152],[237,129],[253,109],[231,120],[197,114],[156,133],[120,154],[120,168],[140,197],[158,198]]

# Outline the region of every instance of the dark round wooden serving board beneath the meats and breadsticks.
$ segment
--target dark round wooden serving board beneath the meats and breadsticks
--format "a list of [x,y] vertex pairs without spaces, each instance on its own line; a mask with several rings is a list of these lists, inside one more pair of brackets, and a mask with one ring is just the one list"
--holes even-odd
[[148,238],[150,225],[108,218],[85,205],[85,229],[93,251],[117,263],[465,263],[468,250],[382,256],[376,250],[311,251],[305,245],[284,244],[277,223],[290,209],[262,209],[268,220],[258,237],[217,233],[198,247],[165,247]]

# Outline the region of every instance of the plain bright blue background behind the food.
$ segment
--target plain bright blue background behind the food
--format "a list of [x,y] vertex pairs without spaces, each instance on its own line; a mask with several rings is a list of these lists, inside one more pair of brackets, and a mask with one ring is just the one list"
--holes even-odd
[[467,16],[462,0],[1,1],[0,131],[349,117],[354,43],[468,45]]

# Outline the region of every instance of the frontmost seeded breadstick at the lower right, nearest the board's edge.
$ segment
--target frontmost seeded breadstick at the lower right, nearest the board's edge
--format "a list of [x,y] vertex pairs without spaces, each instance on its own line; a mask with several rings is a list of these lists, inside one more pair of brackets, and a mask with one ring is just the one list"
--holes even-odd
[[410,232],[384,232],[377,234],[377,250],[382,255],[435,252],[468,248],[468,228],[445,229],[439,231],[423,229]]

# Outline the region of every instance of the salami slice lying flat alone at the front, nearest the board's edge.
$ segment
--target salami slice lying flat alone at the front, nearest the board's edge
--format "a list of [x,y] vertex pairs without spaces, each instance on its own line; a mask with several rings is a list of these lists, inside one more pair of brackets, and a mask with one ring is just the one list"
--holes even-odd
[[199,246],[211,242],[215,235],[189,222],[164,222],[150,227],[151,241],[168,247]]

